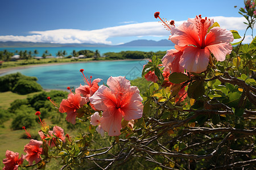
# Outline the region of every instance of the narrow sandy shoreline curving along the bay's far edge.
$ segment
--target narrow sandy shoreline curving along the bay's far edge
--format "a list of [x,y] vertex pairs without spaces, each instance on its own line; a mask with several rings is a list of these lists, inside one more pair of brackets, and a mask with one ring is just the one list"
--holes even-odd
[[110,62],[110,61],[139,61],[139,60],[149,60],[148,58],[143,59],[113,59],[113,60],[90,60],[90,61],[74,61],[74,62],[57,62],[57,63],[42,63],[42,64],[34,64],[34,65],[25,65],[25,66],[16,66],[16,67],[9,67],[9,68],[1,68],[0,69],[0,76],[1,74],[7,73],[9,71],[14,70],[22,70],[31,67],[44,67],[44,66],[57,66],[57,65],[68,65],[71,63],[86,63],[86,62]]

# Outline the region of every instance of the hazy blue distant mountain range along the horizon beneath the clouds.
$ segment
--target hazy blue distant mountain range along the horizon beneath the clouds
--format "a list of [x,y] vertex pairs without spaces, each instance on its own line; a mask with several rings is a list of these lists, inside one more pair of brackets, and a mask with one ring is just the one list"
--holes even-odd
[[108,46],[174,46],[174,43],[168,40],[134,40],[121,45],[106,45],[106,44],[55,44],[45,42],[15,42],[15,41],[0,41],[0,48],[15,48],[15,47],[108,47]]

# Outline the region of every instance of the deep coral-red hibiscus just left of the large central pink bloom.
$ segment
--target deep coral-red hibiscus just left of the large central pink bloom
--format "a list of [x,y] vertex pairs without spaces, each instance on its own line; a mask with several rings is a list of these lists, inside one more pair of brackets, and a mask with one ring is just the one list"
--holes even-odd
[[79,94],[69,94],[68,99],[63,99],[60,103],[59,112],[67,113],[66,120],[73,125],[76,124],[77,110],[80,109],[86,101]]

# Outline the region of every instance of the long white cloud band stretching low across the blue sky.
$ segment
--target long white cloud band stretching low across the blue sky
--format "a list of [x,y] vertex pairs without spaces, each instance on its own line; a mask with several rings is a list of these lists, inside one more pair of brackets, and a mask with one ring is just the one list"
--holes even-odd
[[[218,22],[222,28],[244,30],[246,20],[243,17],[224,17],[214,16],[214,21]],[[179,25],[184,21],[176,21]],[[133,23],[119,25],[116,27],[81,30],[81,29],[54,29],[48,31],[31,31],[28,36],[0,36],[0,41],[30,41],[30,42],[52,42],[52,43],[101,43],[112,44],[108,41],[110,37],[129,37],[129,36],[168,36],[169,31],[158,22]]]

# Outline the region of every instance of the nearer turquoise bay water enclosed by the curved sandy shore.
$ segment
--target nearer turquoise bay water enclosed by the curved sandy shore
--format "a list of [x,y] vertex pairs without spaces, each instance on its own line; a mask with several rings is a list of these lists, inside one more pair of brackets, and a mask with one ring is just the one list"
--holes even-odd
[[[84,69],[85,76],[92,76],[92,79],[101,78],[100,84],[106,83],[110,76],[126,76],[132,80],[141,76],[143,65],[146,60],[141,61],[102,61],[71,63],[57,66],[39,66],[27,69],[10,71],[5,74],[20,72],[27,76],[36,76],[38,83],[44,89],[66,90],[68,86],[79,87],[84,84],[80,69]],[[3,74],[2,74],[3,75]]]

